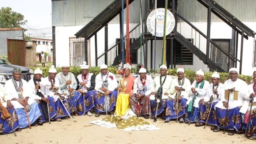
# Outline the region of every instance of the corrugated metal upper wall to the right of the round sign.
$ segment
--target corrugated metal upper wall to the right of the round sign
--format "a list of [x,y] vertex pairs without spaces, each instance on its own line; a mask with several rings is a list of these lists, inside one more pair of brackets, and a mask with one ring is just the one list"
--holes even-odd
[[[215,0],[241,22],[256,22],[256,0]],[[189,22],[207,22],[207,8],[197,0],[179,0],[178,12]],[[214,14],[211,22],[223,22]]]

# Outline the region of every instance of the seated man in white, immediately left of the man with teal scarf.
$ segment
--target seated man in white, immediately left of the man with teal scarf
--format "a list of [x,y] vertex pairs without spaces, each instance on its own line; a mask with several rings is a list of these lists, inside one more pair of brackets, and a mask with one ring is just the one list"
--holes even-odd
[[[170,119],[177,119],[177,108],[178,108],[178,118],[180,118],[180,122],[183,123],[185,120],[185,107],[186,102],[188,101],[189,90],[191,88],[190,81],[184,77],[184,69],[177,69],[177,78],[172,81],[170,87],[170,98],[168,98],[166,102],[166,114],[165,114],[165,122],[169,122]],[[177,99],[178,99],[178,107],[177,107]]]

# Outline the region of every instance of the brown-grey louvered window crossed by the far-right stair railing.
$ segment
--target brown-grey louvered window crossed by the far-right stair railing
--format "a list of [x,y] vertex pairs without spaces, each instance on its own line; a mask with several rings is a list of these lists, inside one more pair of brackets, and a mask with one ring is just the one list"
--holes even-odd
[[[230,39],[213,39],[213,41],[226,52],[230,52]],[[222,69],[229,69],[229,58],[211,43],[211,60],[218,64]]]

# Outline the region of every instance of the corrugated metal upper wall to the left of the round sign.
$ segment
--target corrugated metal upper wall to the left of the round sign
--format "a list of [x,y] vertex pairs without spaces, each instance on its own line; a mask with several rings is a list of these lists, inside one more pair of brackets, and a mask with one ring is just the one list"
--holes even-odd
[[[52,1],[52,26],[82,26],[89,23],[114,0],[62,0]],[[144,15],[144,0],[143,15]],[[129,5],[130,23],[140,22],[140,1],[135,0]],[[124,23],[126,9],[124,10]],[[118,24],[119,16],[110,24]]]

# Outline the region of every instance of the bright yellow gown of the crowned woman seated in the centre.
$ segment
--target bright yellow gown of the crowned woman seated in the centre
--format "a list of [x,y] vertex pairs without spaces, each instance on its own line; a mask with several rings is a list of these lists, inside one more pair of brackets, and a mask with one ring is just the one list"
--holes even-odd
[[[120,78],[120,84],[121,84],[121,92],[119,92],[116,100],[116,115],[118,117],[125,115],[126,110],[129,107],[129,96],[131,92],[128,94],[125,94],[125,90],[127,88],[128,80],[123,79],[123,77]],[[131,90],[132,91],[132,90]]]

